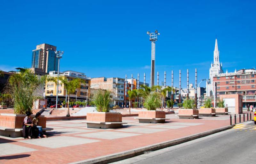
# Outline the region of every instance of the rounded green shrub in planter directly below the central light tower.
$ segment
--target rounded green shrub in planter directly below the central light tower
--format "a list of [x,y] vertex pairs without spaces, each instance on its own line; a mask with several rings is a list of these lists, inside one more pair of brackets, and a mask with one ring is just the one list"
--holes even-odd
[[160,95],[156,92],[149,93],[143,105],[148,110],[156,110],[161,106]]

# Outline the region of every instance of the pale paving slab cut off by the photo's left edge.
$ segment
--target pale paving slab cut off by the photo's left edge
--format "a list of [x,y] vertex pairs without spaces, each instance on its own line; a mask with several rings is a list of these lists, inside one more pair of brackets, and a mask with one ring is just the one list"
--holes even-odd
[[26,153],[26,152],[32,152],[32,151],[36,151],[36,149],[31,149],[28,147],[9,144],[9,143],[0,144],[0,156],[17,154],[17,153]]

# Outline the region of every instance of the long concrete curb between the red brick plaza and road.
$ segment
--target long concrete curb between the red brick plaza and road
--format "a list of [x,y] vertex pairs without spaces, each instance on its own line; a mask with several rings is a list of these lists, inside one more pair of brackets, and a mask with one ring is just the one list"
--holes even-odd
[[188,142],[188,141],[191,141],[191,140],[194,140],[197,138],[201,138],[201,137],[205,137],[205,136],[208,136],[208,135],[211,135],[214,133],[218,133],[220,131],[228,130],[233,127],[234,127],[234,125],[229,125],[229,126],[225,126],[225,127],[214,129],[214,130],[193,134],[193,135],[190,135],[190,136],[184,137],[184,138],[178,138],[178,139],[165,141],[165,142],[154,144],[154,145],[144,146],[144,147],[140,147],[137,149],[132,149],[132,150],[128,150],[128,151],[124,151],[124,152],[120,152],[120,153],[109,154],[109,155],[105,155],[105,156],[101,156],[101,157],[97,157],[97,158],[93,158],[93,159],[77,161],[77,162],[73,162],[70,164],[105,164],[105,163],[116,162],[119,160],[124,160],[124,159],[131,158],[131,157],[134,157],[137,155],[141,155],[144,152],[155,151],[155,150],[163,149],[163,148],[166,148],[169,146],[178,145],[178,144]]

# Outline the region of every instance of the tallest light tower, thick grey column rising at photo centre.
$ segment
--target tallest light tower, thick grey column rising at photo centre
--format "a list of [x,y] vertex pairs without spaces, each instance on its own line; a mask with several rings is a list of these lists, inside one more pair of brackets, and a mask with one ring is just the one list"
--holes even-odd
[[156,30],[154,33],[150,31],[147,32],[149,35],[149,41],[151,41],[151,77],[150,77],[150,86],[154,86],[155,83],[155,59],[156,59],[156,41],[157,35],[160,35]]

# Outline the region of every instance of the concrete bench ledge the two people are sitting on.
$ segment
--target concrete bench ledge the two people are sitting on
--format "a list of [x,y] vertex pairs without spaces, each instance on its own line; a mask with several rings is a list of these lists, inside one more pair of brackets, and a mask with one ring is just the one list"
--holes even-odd
[[[53,128],[42,128],[42,129],[44,132],[53,130]],[[0,127],[0,136],[12,137],[12,138],[23,137],[22,131],[23,131],[22,128]]]

